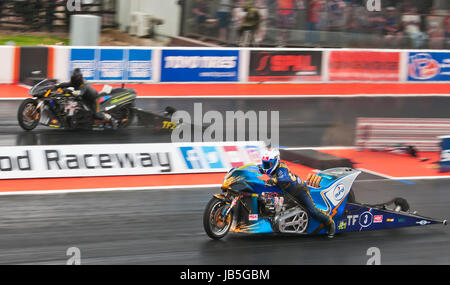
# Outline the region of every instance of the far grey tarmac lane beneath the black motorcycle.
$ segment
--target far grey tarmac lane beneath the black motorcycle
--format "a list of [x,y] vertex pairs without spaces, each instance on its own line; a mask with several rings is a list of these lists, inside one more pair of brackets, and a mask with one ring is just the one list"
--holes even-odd
[[[447,118],[450,97],[355,97],[355,98],[238,98],[238,99],[138,99],[136,106],[160,113],[166,106],[187,111],[195,118],[194,104],[201,103],[202,113],[213,110],[222,114],[227,111],[278,111],[279,145],[296,146],[348,146],[354,144],[357,117],[400,117],[400,118]],[[131,126],[118,132],[67,132],[38,127],[30,133],[23,132],[17,123],[17,109],[20,101],[0,101],[0,145],[35,144],[86,144],[86,143],[159,143],[170,142],[167,133]],[[270,112],[267,120],[258,119],[258,127],[270,130],[276,126]],[[230,127],[230,126],[226,126]],[[256,126],[253,126],[256,127]],[[248,130],[235,126],[236,134],[249,139]],[[224,131],[227,129],[224,128]],[[68,139],[68,134],[70,139]],[[224,136],[225,137],[225,136]]]

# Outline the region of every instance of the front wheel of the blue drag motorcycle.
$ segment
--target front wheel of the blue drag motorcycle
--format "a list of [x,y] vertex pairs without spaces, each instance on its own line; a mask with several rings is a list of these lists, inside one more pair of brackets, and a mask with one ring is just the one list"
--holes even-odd
[[222,213],[228,205],[225,201],[213,197],[203,213],[203,228],[206,234],[215,240],[226,236],[231,228],[232,214],[223,219]]

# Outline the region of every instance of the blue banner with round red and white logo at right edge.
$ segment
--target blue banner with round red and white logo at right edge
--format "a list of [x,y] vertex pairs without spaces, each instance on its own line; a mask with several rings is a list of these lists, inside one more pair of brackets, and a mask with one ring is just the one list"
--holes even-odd
[[450,81],[450,52],[410,52],[409,81]]

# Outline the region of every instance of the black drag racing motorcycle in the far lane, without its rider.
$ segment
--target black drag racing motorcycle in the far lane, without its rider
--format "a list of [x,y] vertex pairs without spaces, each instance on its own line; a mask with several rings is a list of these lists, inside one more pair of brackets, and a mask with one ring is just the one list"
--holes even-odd
[[[25,99],[19,106],[17,119],[22,129],[31,131],[42,124],[61,129],[111,128],[110,123],[99,120],[95,112],[73,95],[73,88],[55,90],[56,81],[45,79],[30,90],[33,98]],[[119,128],[129,126],[135,116],[136,92],[130,88],[111,88],[105,85],[99,93],[100,112],[110,114]]]

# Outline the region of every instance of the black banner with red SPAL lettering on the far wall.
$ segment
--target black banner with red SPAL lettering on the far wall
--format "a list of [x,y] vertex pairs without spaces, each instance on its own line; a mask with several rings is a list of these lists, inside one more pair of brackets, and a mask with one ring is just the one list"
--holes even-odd
[[322,51],[260,51],[250,53],[249,81],[320,81]]

